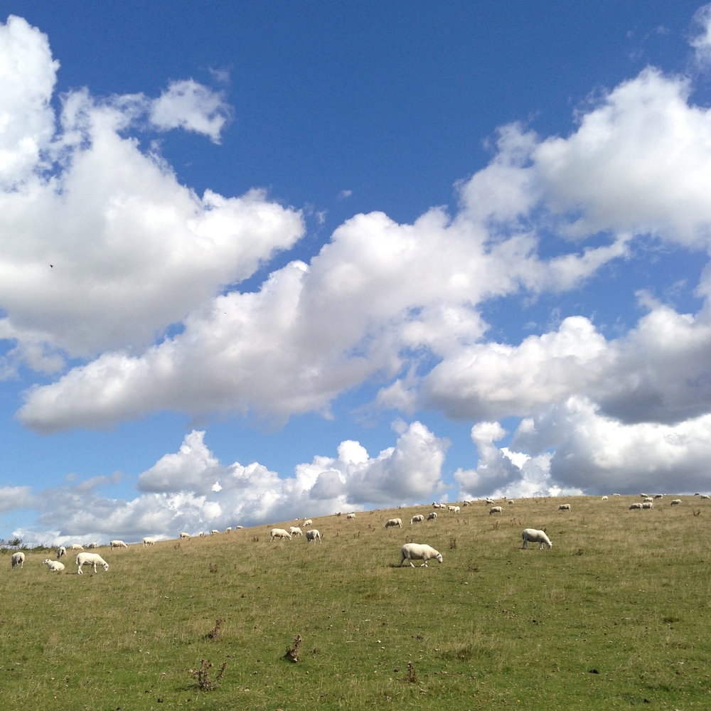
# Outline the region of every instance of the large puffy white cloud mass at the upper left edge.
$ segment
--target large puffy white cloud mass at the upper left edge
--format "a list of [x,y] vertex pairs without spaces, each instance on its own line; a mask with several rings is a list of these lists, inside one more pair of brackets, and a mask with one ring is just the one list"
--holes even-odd
[[[69,92],[55,116],[58,63],[21,18],[0,25],[0,59],[0,336],[16,342],[8,370],[145,348],[303,234],[301,213],[261,191],[201,197],[181,186],[125,134],[141,128],[151,104],[142,95]],[[188,84],[193,104],[179,123],[197,130],[207,112],[215,138],[218,95]],[[163,128],[178,95],[171,85],[157,100]],[[178,108],[171,115],[178,122]]]

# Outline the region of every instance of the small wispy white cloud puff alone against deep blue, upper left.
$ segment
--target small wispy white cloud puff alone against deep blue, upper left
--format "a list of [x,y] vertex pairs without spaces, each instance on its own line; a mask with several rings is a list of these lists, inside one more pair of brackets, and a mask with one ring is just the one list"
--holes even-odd
[[183,128],[220,143],[220,133],[230,117],[223,92],[214,92],[192,79],[171,82],[154,100],[150,121],[161,131]]

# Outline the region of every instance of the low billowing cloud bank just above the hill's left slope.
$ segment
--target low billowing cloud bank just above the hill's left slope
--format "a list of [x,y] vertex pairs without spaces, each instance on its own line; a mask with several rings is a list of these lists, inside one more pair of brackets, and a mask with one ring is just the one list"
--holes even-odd
[[337,456],[315,456],[296,466],[294,476],[281,478],[257,462],[220,464],[204,437],[205,432],[193,430],[177,452],[144,471],[137,484],[141,493],[132,501],[101,495],[100,488],[115,483],[119,475],[70,483],[36,497],[28,487],[12,491],[6,487],[8,509],[23,501],[41,510],[36,527],[16,533],[28,543],[117,537],[128,541],[144,535],[175,538],[181,530],[224,530],[368,505],[412,504],[441,490],[449,444],[420,422],[412,422],[394,447],[376,456],[346,440]]

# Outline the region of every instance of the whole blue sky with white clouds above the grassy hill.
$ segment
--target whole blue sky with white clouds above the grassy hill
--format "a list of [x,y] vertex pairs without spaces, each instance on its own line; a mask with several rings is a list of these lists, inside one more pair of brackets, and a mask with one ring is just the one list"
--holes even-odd
[[710,18],[0,1],[0,537],[709,488]]

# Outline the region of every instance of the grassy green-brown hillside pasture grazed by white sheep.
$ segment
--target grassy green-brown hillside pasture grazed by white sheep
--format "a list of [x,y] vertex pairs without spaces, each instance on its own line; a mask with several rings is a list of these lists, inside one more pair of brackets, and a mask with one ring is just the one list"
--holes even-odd
[[[711,503],[671,498],[642,512],[631,496],[517,500],[491,516],[475,503],[415,525],[431,507],[314,518],[322,544],[269,543],[270,525],[102,547],[97,574],[71,556],[50,573],[39,551],[11,570],[4,555],[1,707],[708,709]],[[385,530],[396,516],[404,528]],[[523,528],[545,528],[552,550],[521,550]],[[444,562],[396,567],[407,540]],[[203,659],[211,678],[227,663],[214,690],[190,673]]]

